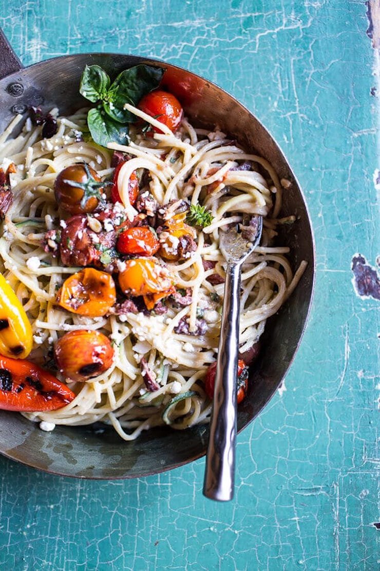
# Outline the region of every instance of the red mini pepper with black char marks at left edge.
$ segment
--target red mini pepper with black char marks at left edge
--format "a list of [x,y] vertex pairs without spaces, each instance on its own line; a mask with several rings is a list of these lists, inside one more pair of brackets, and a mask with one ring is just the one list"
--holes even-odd
[[75,393],[38,365],[0,355],[0,408],[46,412],[64,407]]

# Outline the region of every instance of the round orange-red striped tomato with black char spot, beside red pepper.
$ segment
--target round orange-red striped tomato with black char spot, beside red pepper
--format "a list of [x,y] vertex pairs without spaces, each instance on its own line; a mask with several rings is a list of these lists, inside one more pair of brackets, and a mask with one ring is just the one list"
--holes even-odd
[[54,356],[62,375],[72,381],[87,381],[111,367],[113,348],[100,331],[79,329],[56,342]]

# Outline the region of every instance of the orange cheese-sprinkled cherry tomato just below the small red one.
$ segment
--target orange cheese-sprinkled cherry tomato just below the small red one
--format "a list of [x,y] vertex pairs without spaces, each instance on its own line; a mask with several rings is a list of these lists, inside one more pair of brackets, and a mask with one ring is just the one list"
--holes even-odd
[[119,274],[119,285],[127,295],[144,297],[146,308],[175,292],[173,278],[164,266],[150,258],[134,258],[126,262]]

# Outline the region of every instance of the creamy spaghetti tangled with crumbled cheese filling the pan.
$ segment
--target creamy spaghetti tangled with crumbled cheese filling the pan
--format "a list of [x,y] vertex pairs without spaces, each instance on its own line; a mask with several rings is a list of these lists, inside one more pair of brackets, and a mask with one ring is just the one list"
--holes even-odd
[[[83,329],[104,333],[115,352],[111,367],[87,382],[60,377],[76,394],[66,406],[24,415],[45,429],[102,421],[128,441],[157,425],[183,429],[209,419],[211,402],[204,379],[216,359],[224,289],[222,279],[213,279],[215,274],[224,275],[219,232],[241,222],[243,212],[264,217],[261,245],[242,272],[242,354],[257,343],[268,317],[296,287],[306,262],[293,275],[286,256],[289,248],[273,246],[277,224],[293,219],[279,219],[282,188],[271,164],[244,151],[218,128],[213,132],[197,129],[183,118],[174,134],[140,109],[125,108],[161,132],[152,138],[132,132],[129,144],[111,143],[105,148],[84,136],[85,109],[68,117],[52,110],[58,130],[50,139],[43,139],[41,127],[32,126],[30,120],[12,137],[22,124],[22,117],[15,117],[0,136],[0,165],[17,167],[11,174],[14,200],[0,238],[0,265],[32,325],[30,360],[48,368],[56,341],[64,333]],[[130,180],[136,171],[149,174],[141,192],[149,191],[161,207],[170,209],[171,204],[178,206],[186,200],[193,206],[201,203],[212,215],[206,227],[194,229],[194,251],[179,262],[166,260],[175,287],[191,298],[188,305],[166,303],[161,315],[153,309],[88,317],[57,304],[58,289],[81,268],[64,265],[44,247],[46,232],[65,224],[54,195],[56,176],[72,164],[87,163],[102,180],[109,179],[113,151],[129,156],[118,184],[123,214],[130,222],[138,215],[129,199]],[[155,391],[146,387],[142,363],[158,385]]]

